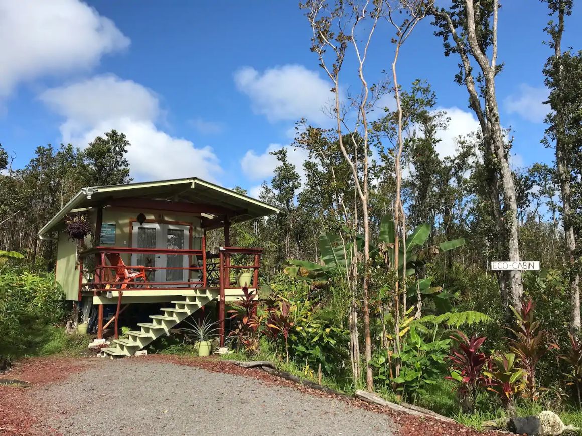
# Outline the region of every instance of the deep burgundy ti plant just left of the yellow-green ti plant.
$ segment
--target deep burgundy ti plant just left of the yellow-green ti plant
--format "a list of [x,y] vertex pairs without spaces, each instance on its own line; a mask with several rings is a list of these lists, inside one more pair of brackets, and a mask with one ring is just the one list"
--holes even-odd
[[463,399],[464,409],[472,412],[479,389],[487,384],[487,380],[483,376],[483,368],[489,358],[484,352],[479,351],[486,338],[473,335],[469,339],[459,330],[450,338],[457,345],[456,348],[451,349],[447,357],[450,362],[450,376],[445,378],[459,383],[457,395]]

